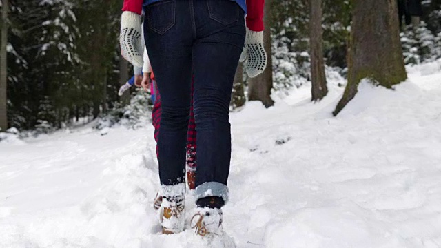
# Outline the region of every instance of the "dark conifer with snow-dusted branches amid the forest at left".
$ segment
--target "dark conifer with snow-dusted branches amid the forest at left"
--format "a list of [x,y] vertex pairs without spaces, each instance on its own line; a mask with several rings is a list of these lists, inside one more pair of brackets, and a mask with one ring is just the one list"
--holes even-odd
[[72,0],[40,2],[48,10],[43,22],[40,41],[43,43],[37,55],[45,71],[37,119],[48,121],[56,127],[69,122],[76,105],[74,66],[80,59],[76,54],[76,14]]

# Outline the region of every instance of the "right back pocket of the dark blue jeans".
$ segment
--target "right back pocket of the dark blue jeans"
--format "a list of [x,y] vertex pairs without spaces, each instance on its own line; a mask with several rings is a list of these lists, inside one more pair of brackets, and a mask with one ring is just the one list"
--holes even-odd
[[240,6],[232,0],[207,0],[209,18],[229,25],[239,20]]

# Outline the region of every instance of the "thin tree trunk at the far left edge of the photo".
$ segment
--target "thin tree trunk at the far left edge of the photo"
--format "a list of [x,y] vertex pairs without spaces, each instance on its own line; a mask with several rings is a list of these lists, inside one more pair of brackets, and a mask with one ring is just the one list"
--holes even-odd
[[8,65],[6,45],[8,45],[8,0],[1,6],[1,41],[0,41],[0,130],[8,129]]

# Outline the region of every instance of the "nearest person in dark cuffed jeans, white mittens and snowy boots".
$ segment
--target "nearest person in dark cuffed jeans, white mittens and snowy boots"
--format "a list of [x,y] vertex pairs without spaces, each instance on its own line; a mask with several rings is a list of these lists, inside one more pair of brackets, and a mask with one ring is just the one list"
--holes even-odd
[[[143,0],[125,0],[121,16],[121,53],[134,65],[142,65],[142,3]],[[242,59],[249,55],[249,76],[265,69],[263,3],[147,0],[145,43],[162,101],[158,159],[164,234],[183,231],[185,224],[185,143],[192,72],[198,149],[197,209],[192,227],[200,236],[224,234],[221,207],[229,197],[231,158],[229,101],[244,42]]]

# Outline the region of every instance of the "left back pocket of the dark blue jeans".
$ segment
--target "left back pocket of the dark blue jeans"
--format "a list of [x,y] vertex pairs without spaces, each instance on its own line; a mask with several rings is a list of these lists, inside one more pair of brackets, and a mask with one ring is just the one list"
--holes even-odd
[[146,14],[150,30],[165,34],[176,22],[176,0],[153,3],[147,6]]

